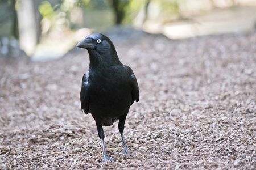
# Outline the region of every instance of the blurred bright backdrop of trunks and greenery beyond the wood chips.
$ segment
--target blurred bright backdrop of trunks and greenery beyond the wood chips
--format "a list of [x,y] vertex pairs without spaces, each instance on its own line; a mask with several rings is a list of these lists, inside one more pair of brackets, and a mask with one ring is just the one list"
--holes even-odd
[[0,0],[0,55],[45,61],[92,32],[129,29],[170,39],[255,29],[255,0]]

